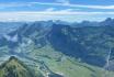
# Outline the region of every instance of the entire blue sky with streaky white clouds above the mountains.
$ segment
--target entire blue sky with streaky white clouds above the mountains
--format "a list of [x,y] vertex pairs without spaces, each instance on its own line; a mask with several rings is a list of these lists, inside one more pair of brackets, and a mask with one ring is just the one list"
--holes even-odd
[[114,0],[0,0],[0,21],[103,21],[114,18]]

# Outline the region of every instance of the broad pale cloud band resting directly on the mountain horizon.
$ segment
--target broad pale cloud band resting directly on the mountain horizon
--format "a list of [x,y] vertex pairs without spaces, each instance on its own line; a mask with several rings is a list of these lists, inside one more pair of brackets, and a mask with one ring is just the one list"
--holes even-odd
[[[41,12],[0,12],[0,21],[41,21],[41,20],[65,20],[75,21],[78,19],[89,20],[91,16],[102,19],[101,15],[114,15],[114,12],[71,12],[70,10],[61,11],[41,11]],[[103,16],[105,18],[105,16]],[[113,18],[113,16],[112,16]],[[9,20],[11,19],[11,20]],[[92,20],[92,19],[90,19]],[[79,20],[78,20],[79,21]]]

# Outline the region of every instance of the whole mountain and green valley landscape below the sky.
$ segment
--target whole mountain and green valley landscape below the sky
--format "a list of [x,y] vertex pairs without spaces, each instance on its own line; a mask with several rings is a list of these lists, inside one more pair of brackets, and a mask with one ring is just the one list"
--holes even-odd
[[0,77],[114,77],[114,19],[0,22]]

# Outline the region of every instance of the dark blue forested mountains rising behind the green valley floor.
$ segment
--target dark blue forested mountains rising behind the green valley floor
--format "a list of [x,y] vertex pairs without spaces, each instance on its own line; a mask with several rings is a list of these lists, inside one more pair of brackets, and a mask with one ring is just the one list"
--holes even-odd
[[[81,58],[82,62],[88,64],[103,66],[106,63],[105,57],[109,54],[109,48],[112,48],[113,54],[114,47],[114,26],[111,25],[113,20],[107,19],[104,22],[109,23],[104,26],[81,28],[54,22],[24,24],[1,37],[0,46],[8,45],[11,48],[11,54],[18,54],[14,48],[19,47],[20,44],[32,43],[38,48],[49,45],[58,52]],[[113,55],[111,58],[113,58]]]

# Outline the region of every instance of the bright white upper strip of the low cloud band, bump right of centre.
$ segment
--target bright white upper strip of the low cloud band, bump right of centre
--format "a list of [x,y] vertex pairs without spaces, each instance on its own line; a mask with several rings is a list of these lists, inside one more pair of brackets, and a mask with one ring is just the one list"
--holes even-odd
[[[114,14],[114,12],[83,12],[83,11],[71,11],[71,9],[60,10],[60,11],[21,11],[21,12],[0,12],[0,16],[27,16],[27,15],[106,15]],[[9,18],[10,19],[10,18]],[[11,20],[11,19],[10,19]]]

